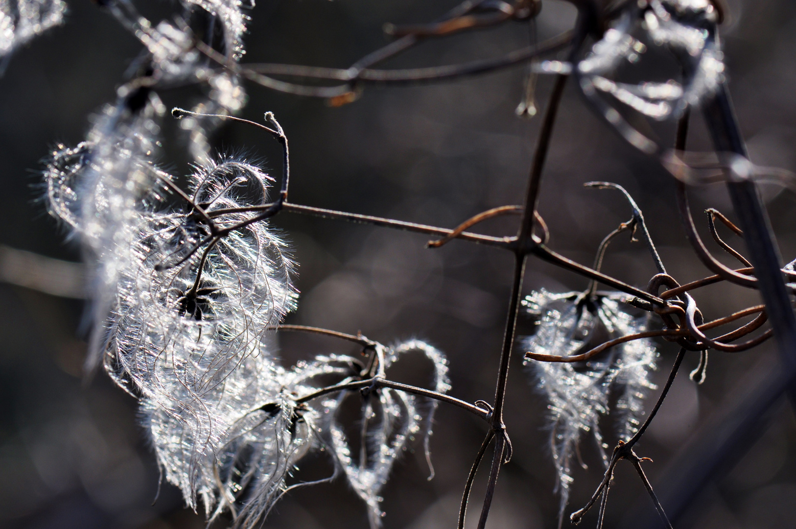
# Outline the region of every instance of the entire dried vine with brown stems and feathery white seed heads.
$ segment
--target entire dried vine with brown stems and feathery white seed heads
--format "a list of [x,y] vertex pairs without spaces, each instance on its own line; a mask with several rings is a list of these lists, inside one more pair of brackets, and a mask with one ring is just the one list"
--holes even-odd
[[[80,239],[94,270],[94,335],[88,368],[102,359],[119,386],[141,399],[144,424],[164,476],[181,489],[190,507],[196,509],[201,504],[210,519],[228,511],[235,527],[256,527],[275,501],[297,485],[288,482],[302,457],[324,447],[334,455],[339,473],[367,505],[371,526],[378,527],[383,515],[379,494],[393,464],[412,438],[423,432],[428,454],[432,414],[437,403],[443,402],[466,409],[486,422],[486,437],[465,484],[460,529],[464,527],[475,473],[487,449],[494,446],[478,521],[482,529],[501,465],[512,455],[503,411],[509,360],[517,341],[515,327],[524,305],[525,312],[538,319],[536,333],[520,342],[528,351],[525,361],[538,380],[540,393],[548,400],[561,519],[568,504],[573,457],[588,433],[603,453],[606,468],[599,488],[585,507],[572,514],[572,522],[578,523],[600,500],[597,525],[603,526],[615,465],[626,459],[634,464],[661,519],[671,527],[642,470],[645,458],[638,457],[634,446],[668,394],[685,351],[700,351],[700,368],[693,374],[700,382],[710,349],[745,351],[773,335],[786,358],[796,350],[796,318],[789,297],[794,285],[783,281],[783,276],[790,280],[796,273],[792,264],[781,268],[778,262],[775,240],[755,189],[760,175],[774,175],[777,182],[792,178],[781,171],[757,168],[747,160],[724,79],[718,29],[724,13],[720,3],[572,3],[579,11],[576,26],[539,45],[460,65],[389,70],[375,66],[435,37],[509,21],[533,21],[541,2],[468,1],[436,22],[388,25],[387,32],[396,40],[349,69],[241,62],[247,17],[240,2],[188,2],[188,15],[198,7],[212,21],[204,36],[197,29],[196,17],[175,17],[155,25],[142,18],[127,0],[103,2],[139,38],[146,52],[131,69],[131,78],[119,88],[119,100],[94,119],[87,139],[73,148],[59,145],[51,154],[45,170],[48,206],[50,213]],[[214,24],[220,25],[223,38],[214,37]],[[22,31],[14,32],[12,40],[23,41]],[[568,50],[567,61],[543,60],[544,55],[562,49]],[[622,81],[629,76],[628,70],[637,73],[633,70],[638,62],[657,61],[654,53],[647,55],[651,49],[668,53],[681,72],[663,81]],[[529,77],[519,114],[536,113],[536,76],[555,76],[541,118],[525,202],[488,210],[455,229],[289,202],[287,136],[270,112],[264,124],[253,124],[283,147],[278,193],[269,194],[269,186],[276,181],[256,164],[228,156],[214,158],[210,148],[208,138],[213,127],[224,120],[239,120],[232,115],[247,103],[243,80],[341,105],[352,103],[370,84],[441,82],[524,63],[529,63]],[[677,178],[678,206],[687,237],[714,275],[688,284],[670,276],[638,205],[630,194],[610,182],[587,185],[621,191],[630,202],[633,217],[607,235],[595,264],[588,268],[549,248],[550,235],[537,211],[537,200],[557,108],[569,76],[576,78],[598,116]],[[178,178],[159,169],[152,160],[160,145],[159,128],[165,114],[157,92],[185,84],[201,86],[206,98],[192,110],[173,111],[189,131],[188,149],[196,164],[181,186]],[[689,115],[696,108],[704,112],[719,154],[718,163],[694,163],[693,155],[685,153]],[[646,117],[677,120],[673,151],[665,151],[630,125]],[[708,181],[727,182],[741,227],[717,210],[708,210],[708,225],[716,243],[736,257],[741,268],[728,268],[717,261],[696,232],[685,183]],[[494,401],[469,403],[448,396],[447,360],[419,340],[384,347],[361,335],[280,326],[283,316],[297,302],[291,284],[290,253],[267,223],[268,218],[283,212],[438,237],[429,241],[430,248],[457,238],[512,253],[513,286]],[[521,215],[516,234],[490,237],[467,231],[503,214]],[[747,257],[719,237],[716,218],[743,235]],[[657,266],[658,273],[646,288],[599,272],[608,244],[626,231],[641,233]],[[529,256],[587,277],[592,283],[585,292],[541,290],[523,300]],[[690,292],[722,281],[759,289],[765,305],[705,322]],[[598,291],[598,284],[607,285],[611,292]],[[640,315],[642,312],[646,314]],[[705,334],[748,315],[756,316],[723,335]],[[771,328],[759,331],[769,318]],[[366,361],[325,355],[283,369],[267,340],[271,331],[280,328],[357,343]],[[736,343],[752,333],[755,335],[747,341]],[[676,342],[681,351],[660,397],[642,422],[646,390],[654,387],[650,371],[657,360],[651,341],[655,337]],[[420,351],[432,362],[434,378],[429,389],[388,378],[388,368],[408,351]],[[777,378],[771,391],[781,393],[790,384],[794,373],[789,369]],[[334,379],[331,384],[330,378]],[[357,395],[361,399],[358,454],[338,413],[346,399]],[[431,399],[430,408],[420,406],[425,399]],[[600,433],[599,419],[610,411],[617,416],[615,435],[619,441],[609,455],[604,452],[609,446]]]

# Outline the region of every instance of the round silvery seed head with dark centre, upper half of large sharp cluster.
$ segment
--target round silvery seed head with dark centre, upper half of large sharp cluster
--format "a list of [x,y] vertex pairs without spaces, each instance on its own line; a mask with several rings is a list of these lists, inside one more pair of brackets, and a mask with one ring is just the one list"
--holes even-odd
[[[213,222],[225,229],[252,214],[222,210],[266,203],[267,184],[257,167],[221,159],[198,168],[188,192],[209,216],[218,212]],[[129,378],[145,394],[175,384],[198,392],[223,382],[246,356],[267,355],[267,327],[295,308],[285,244],[263,221],[201,245],[209,233],[192,208],[139,219],[131,259],[119,269],[107,347],[107,369],[119,382]]]

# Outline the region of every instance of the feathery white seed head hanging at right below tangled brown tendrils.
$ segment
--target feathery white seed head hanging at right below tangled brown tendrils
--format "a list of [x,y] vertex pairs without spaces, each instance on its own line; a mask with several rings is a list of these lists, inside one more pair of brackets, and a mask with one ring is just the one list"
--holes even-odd
[[[523,304],[539,318],[537,332],[524,340],[528,351],[543,355],[575,355],[620,336],[646,329],[642,319],[623,312],[621,295],[595,296],[568,292],[552,294],[541,289]],[[657,352],[649,340],[612,347],[586,362],[537,362],[531,364],[550,409],[550,449],[556,465],[560,493],[560,519],[572,484],[572,458],[579,454],[583,434],[591,433],[603,461],[607,462],[599,418],[609,413],[611,394],[618,395],[617,433],[626,440],[638,429],[646,390],[655,368]],[[579,455],[578,455],[579,457]]]

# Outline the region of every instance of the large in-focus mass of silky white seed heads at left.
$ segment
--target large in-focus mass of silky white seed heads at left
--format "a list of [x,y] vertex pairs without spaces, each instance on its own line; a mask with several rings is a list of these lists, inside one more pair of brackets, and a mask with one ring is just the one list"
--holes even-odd
[[[264,344],[267,327],[295,307],[292,262],[263,221],[190,253],[209,233],[206,219],[168,193],[173,178],[146,170],[152,192],[99,259],[116,272],[105,366],[142,397],[158,461],[186,503],[201,499],[208,515],[228,509],[253,527],[313,432],[312,410],[285,392],[297,375],[288,380]],[[252,214],[221,210],[267,202],[268,183],[256,166],[220,159],[197,167],[187,193],[225,229]],[[272,406],[258,410],[263,403]]]

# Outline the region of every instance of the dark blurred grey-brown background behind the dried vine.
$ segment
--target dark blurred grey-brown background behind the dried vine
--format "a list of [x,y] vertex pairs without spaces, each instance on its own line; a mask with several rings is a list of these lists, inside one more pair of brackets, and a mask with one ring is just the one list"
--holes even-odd
[[[387,42],[381,30],[384,22],[426,22],[455,3],[263,0],[250,13],[244,60],[345,68]],[[728,4],[731,17],[724,24],[724,45],[729,85],[751,159],[796,170],[796,5],[785,0]],[[155,0],[138,5],[154,22],[177,10],[170,2]],[[574,18],[569,4],[544,0],[537,22],[539,39],[568,29]],[[497,57],[528,42],[528,25],[513,22],[428,41],[386,66]],[[103,374],[83,381],[84,302],[19,286],[31,281],[31,270],[48,270],[49,261],[40,262],[36,255],[79,261],[76,244],[64,241],[64,230],[46,214],[40,160],[54,143],[73,145],[84,138],[88,116],[115,99],[115,88],[140,49],[139,42],[98,6],[74,0],[69,2],[67,23],[16,53],[0,78],[0,183],[5,205],[0,209],[0,243],[5,245],[0,247],[0,276],[6,281],[0,284],[0,527],[205,527],[203,516],[186,510],[180,493],[168,484],[162,485],[153,504],[158,468],[138,425],[135,400]],[[250,99],[242,116],[259,121],[263,112],[273,111],[283,124],[291,143],[292,202],[453,227],[482,210],[521,203],[540,126],[539,116],[524,120],[514,114],[524,75],[525,69],[517,67],[443,84],[367,88],[360,100],[341,108],[247,84]],[[550,87],[550,79],[540,79],[540,107]],[[183,88],[160,95],[168,108],[189,108],[200,92]],[[661,143],[672,143],[672,123],[655,132]],[[219,151],[259,157],[279,174],[279,145],[254,127],[228,124],[214,142]],[[187,173],[185,137],[169,121],[164,147],[163,167]],[[710,148],[698,116],[689,148]],[[623,143],[569,84],[539,209],[550,226],[552,249],[583,264],[591,264],[605,234],[630,218],[618,193],[583,188],[590,180],[617,182],[634,196],[677,280],[685,283],[709,275],[686,245],[673,179]],[[783,257],[791,261],[796,257],[794,197],[779,191],[766,189],[764,195]],[[701,210],[712,206],[735,218],[722,186],[692,190],[691,197],[708,241]],[[497,219],[478,231],[512,234],[516,222],[516,217]],[[470,402],[492,400],[513,266],[509,253],[463,241],[425,249],[427,237],[418,234],[291,214],[280,214],[272,223],[284,230],[299,264],[301,298],[288,323],[361,331],[382,343],[427,340],[451,360],[451,394]],[[738,239],[730,241],[743,248]],[[54,281],[62,285],[55,293],[79,297],[79,284],[68,280],[79,275],[80,268],[50,270],[37,284],[53,283],[53,274],[64,270],[73,275]],[[628,237],[611,245],[604,270],[638,286],[655,273],[642,244]],[[568,292],[586,286],[579,276],[529,260],[526,294],[542,287]],[[704,288],[695,296],[706,319],[759,303],[755,292],[726,284]],[[531,320],[522,316],[518,331],[532,333]],[[322,353],[357,352],[345,343],[318,337],[282,333],[275,341],[286,365]],[[654,382],[661,387],[677,350],[671,343],[657,345]],[[743,413],[755,388],[765,385],[767,373],[778,362],[776,351],[765,344],[738,355],[712,353],[702,386],[688,378],[697,360],[696,354],[686,357],[669,398],[637,446],[640,456],[654,460],[644,465],[664,505],[677,504],[672,507],[675,527],[796,527],[796,418],[790,403],[782,398],[767,406],[766,413],[755,413],[753,426],[743,430],[732,450],[722,448],[716,438]],[[392,378],[422,383],[428,372],[422,360],[407,359],[396,366]],[[534,387],[533,375],[522,366],[519,347],[510,375],[505,415],[514,456],[501,471],[488,527],[556,527],[558,499],[553,493],[546,402]],[[654,402],[656,395],[652,392],[648,401]],[[603,430],[611,444],[613,429],[613,417],[606,417]],[[427,480],[422,447],[414,445],[416,451],[396,464],[384,488],[384,527],[455,527],[466,475],[484,435],[480,421],[440,406],[431,440],[436,476]],[[602,476],[592,446],[583,442],[588,469],[575,471],[568,512],[586,502]],[[712,446],[719,456],[715,464],[700,456],[705,447],[710,453]],[[302,468],[306,476],[331,472],[324,457]],[[697,484],[696,492],[677,500],[682,480],[690,479],[693,468],[708,468],[702,472],[707,478]],[[468,527],[478,519],[485,473],[476,480]],[[595,515],[583,520],[584,527],[594,526]],[[611,488],[607,527],[655,523],[638,476],[630,464],[621,462]],[[367,519],[365,507],[340,478],[291,492],[277,504],[265,527],[355,528],[367,527]]]

